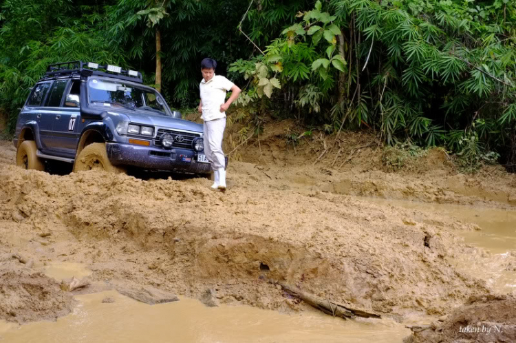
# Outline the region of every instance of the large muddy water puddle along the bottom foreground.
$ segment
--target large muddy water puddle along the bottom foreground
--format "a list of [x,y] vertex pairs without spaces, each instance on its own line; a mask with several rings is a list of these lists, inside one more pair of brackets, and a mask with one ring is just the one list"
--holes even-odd
[[[103,303],[104,298],[114,302]],[[401,342],[393,320],[347,320],[316,311],[286,315],[250,306],[209,308],[197,300],[147,305],[116,291],[77,295],[56,322],[0,322],[0,342]]]

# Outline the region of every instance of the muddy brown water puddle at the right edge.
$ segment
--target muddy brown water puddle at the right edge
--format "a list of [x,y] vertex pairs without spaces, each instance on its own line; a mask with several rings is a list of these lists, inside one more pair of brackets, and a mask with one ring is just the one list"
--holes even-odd
[[501,293],[516,291],[516,211],[467,207],[463,205],[412,202],[407,200],[385,200],[361,198],[379,205],[391,205],[414,209],[426,214],[437,214],[456,218],[462,222],[478,225],[480,230],[459,231],[464,242],[488,251],[479,258],[469,253],[449,262],[475,278],[486,280],[489,287]]

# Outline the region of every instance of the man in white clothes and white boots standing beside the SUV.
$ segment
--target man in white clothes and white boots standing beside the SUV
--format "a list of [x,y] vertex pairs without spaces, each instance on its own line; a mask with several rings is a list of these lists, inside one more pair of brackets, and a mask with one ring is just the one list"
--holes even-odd
[[[210,161],[215,174],[213,189],[226,189],[226,158],[222,152],[222,138],[226,129],[226,110],[238,98],[241,90],[224,76],[215,75],[217,62],[203,59],[201,62],[202,79],[200,84],[201,103],[199,112],[204,121],[204,153]],[[226,92],[232,94],[226,101]]]

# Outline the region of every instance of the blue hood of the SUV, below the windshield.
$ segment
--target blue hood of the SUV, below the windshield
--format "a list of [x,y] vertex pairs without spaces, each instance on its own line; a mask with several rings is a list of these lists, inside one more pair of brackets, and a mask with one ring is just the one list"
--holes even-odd
[[160,114],[153,114],[150,111],[120,111],[117,109],[116,112],[125,114],[125,116],[129,117],[129,121],[135,124],[202,132],[202,124],[185,121],[184,119],[172,118],[170,116],[161,116]]

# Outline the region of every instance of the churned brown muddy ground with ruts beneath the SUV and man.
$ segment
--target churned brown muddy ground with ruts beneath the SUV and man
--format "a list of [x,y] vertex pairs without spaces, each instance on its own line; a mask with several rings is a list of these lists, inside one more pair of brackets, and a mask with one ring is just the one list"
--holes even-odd
[[[437,317],[491,293],[447,261],[466,249],[456,232],[474,227],[353,196],[510,208],[512,176],[494,183],[447,171],[433,178],[432,170],[426,178],[356,167],[335,172],[282,159],[275,141],[260,149],[268,163],[233,161],[222,193],[203,178],[24,171],[14,166],[14,147],[1,142],[0,289],[12,291],[0,293],[0,318],[24,322],[69,311],[71,297],[39,273],[58,261],[92,269],[91,291],[138,284],[199,298],[215,289],[222,303],[307,306],[272,280],[398,320],[414,312]],[[252,148],[248,154],[258,156]],[[373,152],[358,160],[367,154]],[[34,260],[32,268],[13,252]]]

